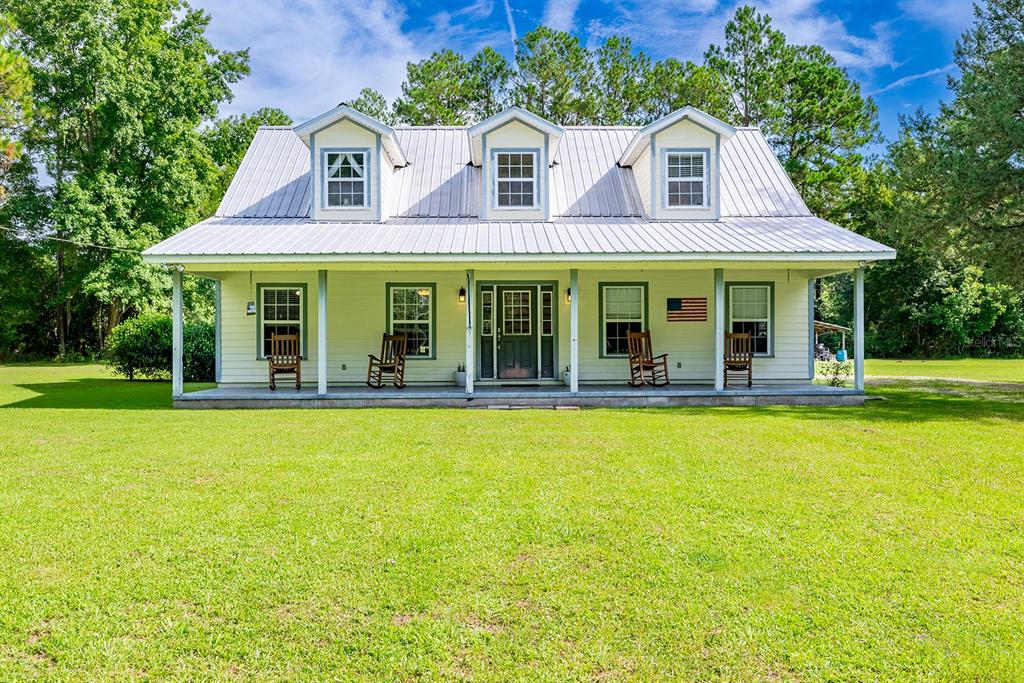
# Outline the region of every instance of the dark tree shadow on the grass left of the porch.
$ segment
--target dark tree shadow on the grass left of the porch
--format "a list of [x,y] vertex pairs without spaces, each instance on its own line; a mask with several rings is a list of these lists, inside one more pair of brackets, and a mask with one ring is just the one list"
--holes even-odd
[[[14,384],[33,396],[0,404],[4,409],[70,409],[97,411],[171,410],[171,383],[162,380],[79,379],[66,382]],[[185,391],[210,388],[185,385]]]

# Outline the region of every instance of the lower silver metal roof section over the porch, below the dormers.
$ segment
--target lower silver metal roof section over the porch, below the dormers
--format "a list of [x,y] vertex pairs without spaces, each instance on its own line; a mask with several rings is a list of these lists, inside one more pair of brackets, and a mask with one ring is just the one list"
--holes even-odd
[[671,256],[808,255],[891,258],[888,247],[814,216],[721,221],[642,218],[377,222],[210,218],[146,251],[150,256]]

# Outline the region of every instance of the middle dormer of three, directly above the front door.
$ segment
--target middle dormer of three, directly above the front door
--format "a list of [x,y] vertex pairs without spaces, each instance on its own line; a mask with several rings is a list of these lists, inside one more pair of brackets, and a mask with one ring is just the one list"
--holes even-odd
[[519,106],[468,130],[470,158],[482,170],[480,218],[551,217],[551,162],[564,131]]

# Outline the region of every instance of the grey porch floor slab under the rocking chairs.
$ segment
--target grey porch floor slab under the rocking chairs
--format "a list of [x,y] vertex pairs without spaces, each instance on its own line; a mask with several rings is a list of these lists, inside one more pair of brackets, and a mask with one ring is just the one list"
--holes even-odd
[[713,385],[671,384],[634,388],[623,383],[586,384],[572,393],[565,385],[477,384],[472,394],[451,385],[410,385],[404,389],[367,386],[316,386],[296,391],[287,383],[266,387],[221,387],[176,396],[176,408],[597,408],[671,405],[859,404],[865,396],[854,389],[821,384],[755,384],[717,392]]

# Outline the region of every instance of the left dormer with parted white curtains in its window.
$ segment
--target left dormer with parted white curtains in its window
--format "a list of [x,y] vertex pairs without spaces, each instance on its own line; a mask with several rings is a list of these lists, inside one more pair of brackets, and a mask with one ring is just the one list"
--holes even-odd
[[394,169],[408,163],[394,130],[344,104],[294,130],[309,147],[313,220],[387,217]]

